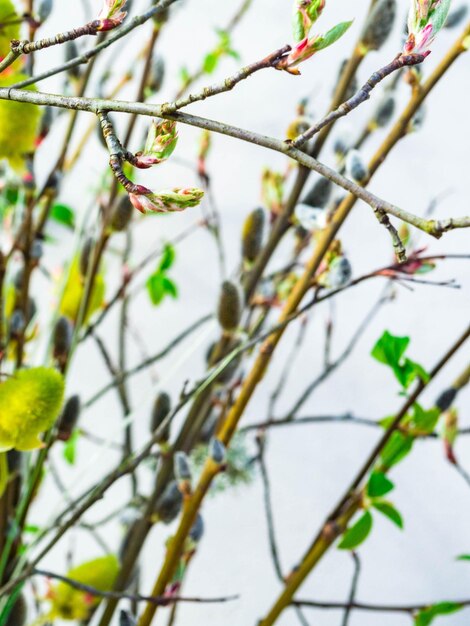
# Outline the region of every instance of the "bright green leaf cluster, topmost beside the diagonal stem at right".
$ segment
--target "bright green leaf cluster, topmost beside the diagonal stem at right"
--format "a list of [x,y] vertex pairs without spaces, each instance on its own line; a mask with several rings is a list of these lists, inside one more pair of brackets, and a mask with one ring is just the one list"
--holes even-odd
[[404,357],[409,343],[409,337],[396,337],[386,330],[371,352],[374,359],[393,370],[404,389],[407,389],[416,378],[421,378],[425,382],[429,380],[429,375],[419,363]]

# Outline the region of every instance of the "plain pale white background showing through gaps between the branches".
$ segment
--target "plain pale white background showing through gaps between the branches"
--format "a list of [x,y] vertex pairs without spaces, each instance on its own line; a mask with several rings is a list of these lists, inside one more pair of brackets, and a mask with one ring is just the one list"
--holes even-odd
[[[90,0],[91,5],[100,5]],[[292,119],[296,103],[310,95],[312,110],[318,115],[325,111],[337,75],[338,62],[345,58],[356,39],[368,0],[348,2],[330,0],[319,28],[332,26],[338,20],[355,18],[355,24],[344,39],[328,51],[318,55],[302,67],[301,77],[280,72],[265,71],[238,85],[230,94],[221,95],[205,103],[191,107],[191,112],[226,121],[244,128],[272,136],[284,136]],[[400,0],[404,16],[407,0]],[[458,2],[455,2],[457,6]],[[172,98],[178,84],[180,67],[189,70],[198,67],[203,55],[215,42],[214,27],[223,26],[237,7],[234,0],[186,0],[175,10],[170,25],[163,32],[157,50],[167,59],[167,78],[164,89],[156,101]],[[147,6],[147,2],[134,2],[134,11]],[[60,10],[62,9],[63,10]],[[240,51],[242,62],[259,59],[268,52],[290,41],[290,0],[254,0],[253,8],[233,36],[234,48]],[[83,21],[81,3],[76,0],[57,0],[54,17],[40,35],[65,30]],[[400,26],[394,37],[380,53],[372,53],[360,70],[360,78],[366,79],[372,71],[388,62],[401,45]],[[115,61],[117,73],[127,68],[142,45],[142,28],[125,52]],[[446,31],[433,46],[433,53],[426,61],[428,73],[456,38],[458,31]],[[134,45],[135,44],[135,45]],[[92,45],[83,42],[84,48]],[[119,44],[120,45],[120,44]],[[112,50],[114,50],[113,48]],[[109,56],[108,56],[109,58]],[[56,65],[62,59],[62,51],[54,48],[37,55],[37,69]],[[224,61],[216,75],[208,82],[215,82],[236,70],[238,64],[232,59]],[[436,215],[468,214],[468,141],[470,122],[468,98],[470,91],[470,57],[468,55],[448,73],[436,88],[426,106],[426,122],[423,129],[404,139],[393,151],[387,164],[382,167],[371,184],[371,190],[410,211],[422,213],[435,196],[449,192],[440,203]],[[60,80],[42,83],[44,91],[59,92]],[[132,99],[135,88],[123,93]],[[92,94],[92,89],[89,89]],[[402,88],[403,99],[407,97]],[[379,92],[372,101],[364,104],[341,127],[360,129],[367,119]],[[79,129],[86,128],[89,116],[83,114]],[[65,116],[64,116],[65,122]],[[62,122],[62,124],[64,124]],[[338,128],[340,125],[338,125]],[[62,127],[63,128],[63,127]],[[142,126],[142,129],[144,126]],[[56,146],[61,138],[56,133],[42,149],[46,171],[53,162]],[[142,131],[143,132],[143,131]],[[75,141],[80,132],[75,134]],[[370,156],[382,139],[378,133],[365,148]],[[180,129],[180,144],[175,157],[193,159],[199,131]],[[134,135],[140,140],[141,133]],[[137,149],[139,142],[134,143]],[[322,159],[333,163],[326,150]],[[60,200],[83,214],[93,198],[93,189],[103,172],[107,160],[105,151],[97,140],[93,142],[63,186]],[[209,171],[213,181],[215,198],[222,213],[224,244],[227,250],[229,271],[239,263],[239,237],[243,219],[249,210],[260,202],[260,172],[262,167],[283,169],[285,159],[262,148],[242,144],[225,137],[214,137],[209,159]],[[184,167],[167,164],[145,174],[144,180],[155,188],[173,185],[189,185],[196,182],[193,174]],[[313,181],[313,177],[312,177]],[[145,226],[136,230],[135,259],[152,250],[159,242],[171,237],[189,225],[198,210],[170,218],[148,218]],[[58,231],[59,232],[59,231]],[[63,246],[57,250],[56,262],[66,258],[73,241],[63,235]],[[358,203],[346,226],[341,231],[345,249],[351,259],[354,274],[360,275],[387,264],[391,259],[388,234],[378,224],[369,207]],[[123,241],[115,239],[116,246]],[[430,252],[470,252],[468,232],[450,233],[439,242],[421,237],[420,243],[429,245]],[[289,244],[284,246],[289,250]],[[166,301],[154,309],[145,293],[137,298],[132,307],[132,323],[145,338],[147,351],[152,354],[187,326],[197,316],[214,308],[219,287],[219,272],[212,240],[207,233],[192,236],[177,249],[178,257],[173,275],[180,288],[180,300]],[[282,262],[282,261],[281,261]],[[276,264],[275,264],[276,265]],[[119,279],[118,266],[112,258],[107,261],[109,292]],[[465,261],[448,261],[431,276],[433,279],[456,278],[461,290],[417,286],[413,292],[398,288],[397,299],[375,318],[362,340],[355,356],[322,386],[305,406],[304,415],[335,414],[348,410],[358,416],[380,418],[393,413],[399,406],[396,385],[385,367],[374,362],[370,349],[384,329],[394,334],[412,337],[410,356],[427,367],[438,360],[448,346],[468,323],[470,299],[470,273]],[[41,279],[34,288],[41,294]],[[351,290],[336,300],[336,328],[333,350],[339,353],[357,328],[366,312],[376,301],[383,283],[376,281]],[[328,308],[323,305],[315,312],[304,341],[301,358],[287,394],[281,400],[279,410],[287,409],[303,388],[321,371],[323,359],[323,330]],[[114,347],[117,316],[108,319],[103,336]],[[181,390],[186,378],[197,378],[203,367],[202,355],[209,336],[215,327],[202,331],[195,354],[188,358],[191,342],[176,351],[176,357],[163,361],[154,372],[174,397]],[[296,329],[291,328],[284,337],[279,352],[263,383],[250,403],[244,423],[266,417],[269,392],[276,384],[284,358],[289,352]],[[131,363],[141,358],[138,349],[130,344]],[[178,367],[175,366],[175,359]],[[431,402],[436,394],[460,373],[468,363],[468,348],[452,360],[445,372],[438,377],[426,394]],[[82,346],[74,361],[69,382],[69,393],[79,392],[84,399],[107,380],[95,347],[92,343]],[[132,380],[131,395],[136,412],[136,430],[139,443],[145,441],[148,429],[149,405],[158,385],[153,385],[148,374]],[[459,396],[458,406],[462,425],[469,425],[469,391]],[[83,416],[83,426],[97,434],[112,433],[120,436],[120,407],[114,395],[97,404]],[[273,487],[276,531],[284,571],[295,565],[311,539],[321,526],[350,477],[360,467],[365,455],[376,441],[378,433],[353,426],[305,426],[279,429],[269,437],[268,465]],[[469,445],[463,440],[457,445],[462,463],[470,470]],[[116,461],[112,453],[97,452],[86,442],[79,448],[80,471],[87,472],[83,482],[74,484],[74,472],[63,466],[61,473],[73,493],[80,493],[84,486],[104,473]],[[362,575],[358,598],[361,601],[383,603],[421,603],[467,597],[470,594],[470,565],[455,562],[461,553],[470,552],[470,489],[444,460],[440,443],[418,443],[413,454],[393,472],[396,491],[393,500],[405,518],[405,531],[399,532],[387,520],[376,519],[375,528],[367,544],[360,549]],[[119,506],[125,497],[127,484],[121,482],[111,490],[104,502],[97,505],[87,517],[99,519]],[[54,487],[38,501],[32,521],[47,519],[51,511],[64,506],[64,500]],[[377,517],[377,516],[376,516]],[[269,557],[267,532],[262,506],[259,479],[248,488],[209,498],[204,506],[206,536],[192,563],[184,593],[187,595],[218,596],[238,593],[241,599],[226,605],[186,605],[179,609],[179,626],[251,626],[263,616],[279,592]],[[163,556],[163,542],[171,527],[157,527],[144,549],[143,591],[149,591]],[[106,538],[116,545],[120,530],[110,525]],[[69,534],[44,561],[44,568],[64,571],[64,555],[71,542],[77,550],[77,562],[99,554],[97,546],[83,532]],[[321,565],[303,585],[298,597],[345,600],[352,574],[352,560],[346,553],[331,550]],[[468,611],[447,618],[452,626],[468,624]],[[157,624],[166,623],[166,611]],[[315,626],[336,626],[341,621],[338,612],[309,612],[309,623]],[[279,620],[280,626],[296,623],[296,617],[286,611]],[[355,613],[350,626],[405,626],[407,616],[388,614]],[[442,620],[444,624],[444,619]]]

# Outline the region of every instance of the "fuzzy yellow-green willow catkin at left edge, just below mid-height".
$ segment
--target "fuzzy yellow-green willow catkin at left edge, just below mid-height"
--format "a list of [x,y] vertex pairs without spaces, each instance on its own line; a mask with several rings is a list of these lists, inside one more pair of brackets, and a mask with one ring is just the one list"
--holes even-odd
[[57,419],[64,379],[56,370],[20,370],[0,384],[0,448],[32,450],[43,444],[39,434]]

